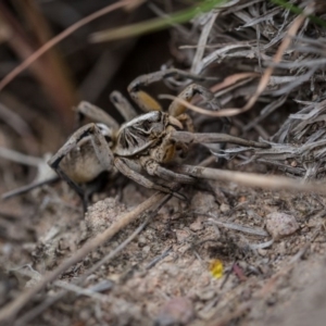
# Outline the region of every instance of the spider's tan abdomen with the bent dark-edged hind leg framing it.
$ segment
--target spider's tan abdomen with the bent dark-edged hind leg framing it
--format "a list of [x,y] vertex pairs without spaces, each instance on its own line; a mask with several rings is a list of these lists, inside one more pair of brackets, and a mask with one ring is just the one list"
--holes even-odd
[[48,162],[80,197],[84,211],[87,209],[87,198],[79,185],[92,180],[103,171],[114,168],[113,153],[103,133],[93,123],[80,127]]

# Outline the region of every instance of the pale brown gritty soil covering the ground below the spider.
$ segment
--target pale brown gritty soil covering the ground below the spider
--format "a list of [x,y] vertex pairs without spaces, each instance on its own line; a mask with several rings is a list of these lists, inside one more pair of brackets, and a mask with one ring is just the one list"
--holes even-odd
[[[93,198],[85,217],[79,199],[63,183],[35,190],[28,202],[4,202],[2,304],[153,193],[134,183],[109,192]],[[324,324],[324,198],[214,181],[181,192],[187,201],[171,199],[134,241],[87,277],[83,289],[88,292],[68,285],[128,238],[146,216],[63,273],[47,293],[30,298],[24,312],[70,290],[26,325]],[[290,222],[271,225],[275,212]],[[273,243],[264,235],[266,224]],[[216,273],[216,264],[223,272],[217,267]]]

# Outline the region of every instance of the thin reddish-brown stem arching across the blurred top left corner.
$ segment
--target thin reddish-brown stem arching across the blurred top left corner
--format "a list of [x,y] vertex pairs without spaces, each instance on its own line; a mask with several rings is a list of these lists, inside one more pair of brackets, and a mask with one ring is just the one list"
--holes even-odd
[[64,38],[66,38],[68,35],[76,32],[78,28],[83,27],[86,24],[89,24],[90,22],[108,14],[111,11],[114,11],[122,7],[127,7],[128,4],[133,3],[133,0],[121,0],[113,4],[110,4],[108,7],[104,7],[103,9],[100,9],[99,11],[86,16],[85,18],[78,21],[77,23],[73,24],[52,39],[50,39],[48,42],[46,42],[43,46],[41,46],[37,51],[35,51],[30,57],[28,57],[25,61],[23,61],[20,65],[17,65],[11,73],[9,73],[1,82],[0,82],[0,90],[2,90],[10,82],[12,82],[17,75],[20,75],[23,71],[25,71],[33,62],[35,62],[37,59],[39,59],[41,55],[43,55],[47,51],[49,51],[52,47],[58,45],[60,41],[62,41]]

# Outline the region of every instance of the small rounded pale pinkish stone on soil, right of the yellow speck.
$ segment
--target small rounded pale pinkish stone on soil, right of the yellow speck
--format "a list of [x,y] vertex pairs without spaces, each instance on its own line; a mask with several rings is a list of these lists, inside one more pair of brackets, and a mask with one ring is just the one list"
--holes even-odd
[[266,216],[266,229],[274,239],[279,239],[293,234],[299,224],[293,215],[274,212]]

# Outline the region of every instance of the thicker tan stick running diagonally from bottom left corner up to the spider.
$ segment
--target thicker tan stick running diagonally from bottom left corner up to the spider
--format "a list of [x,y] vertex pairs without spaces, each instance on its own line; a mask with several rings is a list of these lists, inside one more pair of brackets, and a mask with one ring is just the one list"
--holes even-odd
[[156,192],[148,200],[139,204],[131,212],[127,212],[123,214],[115,224],[113,224],[110,228],[108,228],[102,234],[98,235],[96,238],[91,239],[84,247],[77,250],[73,256],[66,259],[61,265],[59,265],[54,271],[47,273],[39,283],[36,284],[35,287],[25,290],[21,296],[18,296],[15,300],[8,303],[0,310],[0,323],[10,322],[29,301],[30,299],[42,290],[50,281],[54,280],[58,276],[60,276],[64,271],[66,271],[70,266],[79,262],[84,256],[86,256],[89,252],[95,250],[97,247],[101,246],[109,239],[111,239],[115,234],[117,234],[123,227],[137,220],[137,217],[150,209],[158,201],[161,201],[165,193]]

